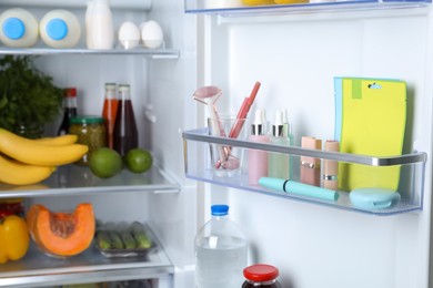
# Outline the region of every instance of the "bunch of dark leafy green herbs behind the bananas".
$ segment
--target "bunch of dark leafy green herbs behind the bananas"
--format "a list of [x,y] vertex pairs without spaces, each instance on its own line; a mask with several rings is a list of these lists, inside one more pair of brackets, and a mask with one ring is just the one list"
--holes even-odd
[[56,120],[62,104],[62,90],[38,71],[32,60],[28,55],[0,59],[0,127],[28,137],[23,130]]

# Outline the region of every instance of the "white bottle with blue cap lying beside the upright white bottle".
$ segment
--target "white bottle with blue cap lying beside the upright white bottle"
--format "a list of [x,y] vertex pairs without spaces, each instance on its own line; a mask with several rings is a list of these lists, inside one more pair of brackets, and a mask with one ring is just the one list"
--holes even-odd
[[81,37],[77,17],[68,10],[57,9],[44,14],[39,23],[43,42],[52,48],[73,48]]

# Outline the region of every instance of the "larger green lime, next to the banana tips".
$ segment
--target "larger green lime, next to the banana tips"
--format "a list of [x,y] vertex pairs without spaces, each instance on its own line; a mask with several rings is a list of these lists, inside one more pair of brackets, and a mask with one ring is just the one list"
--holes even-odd
[[98,177],[110,178],[122,169],[122,157],[112,148],[98,148],[90,155],[89,167]]

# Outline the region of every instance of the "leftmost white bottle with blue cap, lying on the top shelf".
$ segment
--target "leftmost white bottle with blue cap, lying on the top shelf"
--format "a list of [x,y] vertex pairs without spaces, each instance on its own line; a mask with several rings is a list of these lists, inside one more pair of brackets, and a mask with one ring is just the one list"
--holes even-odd
[[13,8],[0,14],[0,40],[4,45],[29,48],[38,38],[38,21],[29,11]]

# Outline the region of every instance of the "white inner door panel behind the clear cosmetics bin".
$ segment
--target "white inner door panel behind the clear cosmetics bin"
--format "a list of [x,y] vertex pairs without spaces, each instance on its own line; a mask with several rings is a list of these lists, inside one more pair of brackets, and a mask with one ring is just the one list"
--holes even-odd
[[[255,107],[269,121],[284,107],[301,136],[334,137],[334,76],[407,82],[406,152],[432,152],[430,9],[201,17],[203,84],[223,89],[221,111],[236,113],[255,81]],[[250,114],[250,116],[253,113]],[[280,268],[283,287],[427,287],[431,161],[424,210],[377,217],[245,191],[208,186],[226,200],[251,240],[253,263]]]

